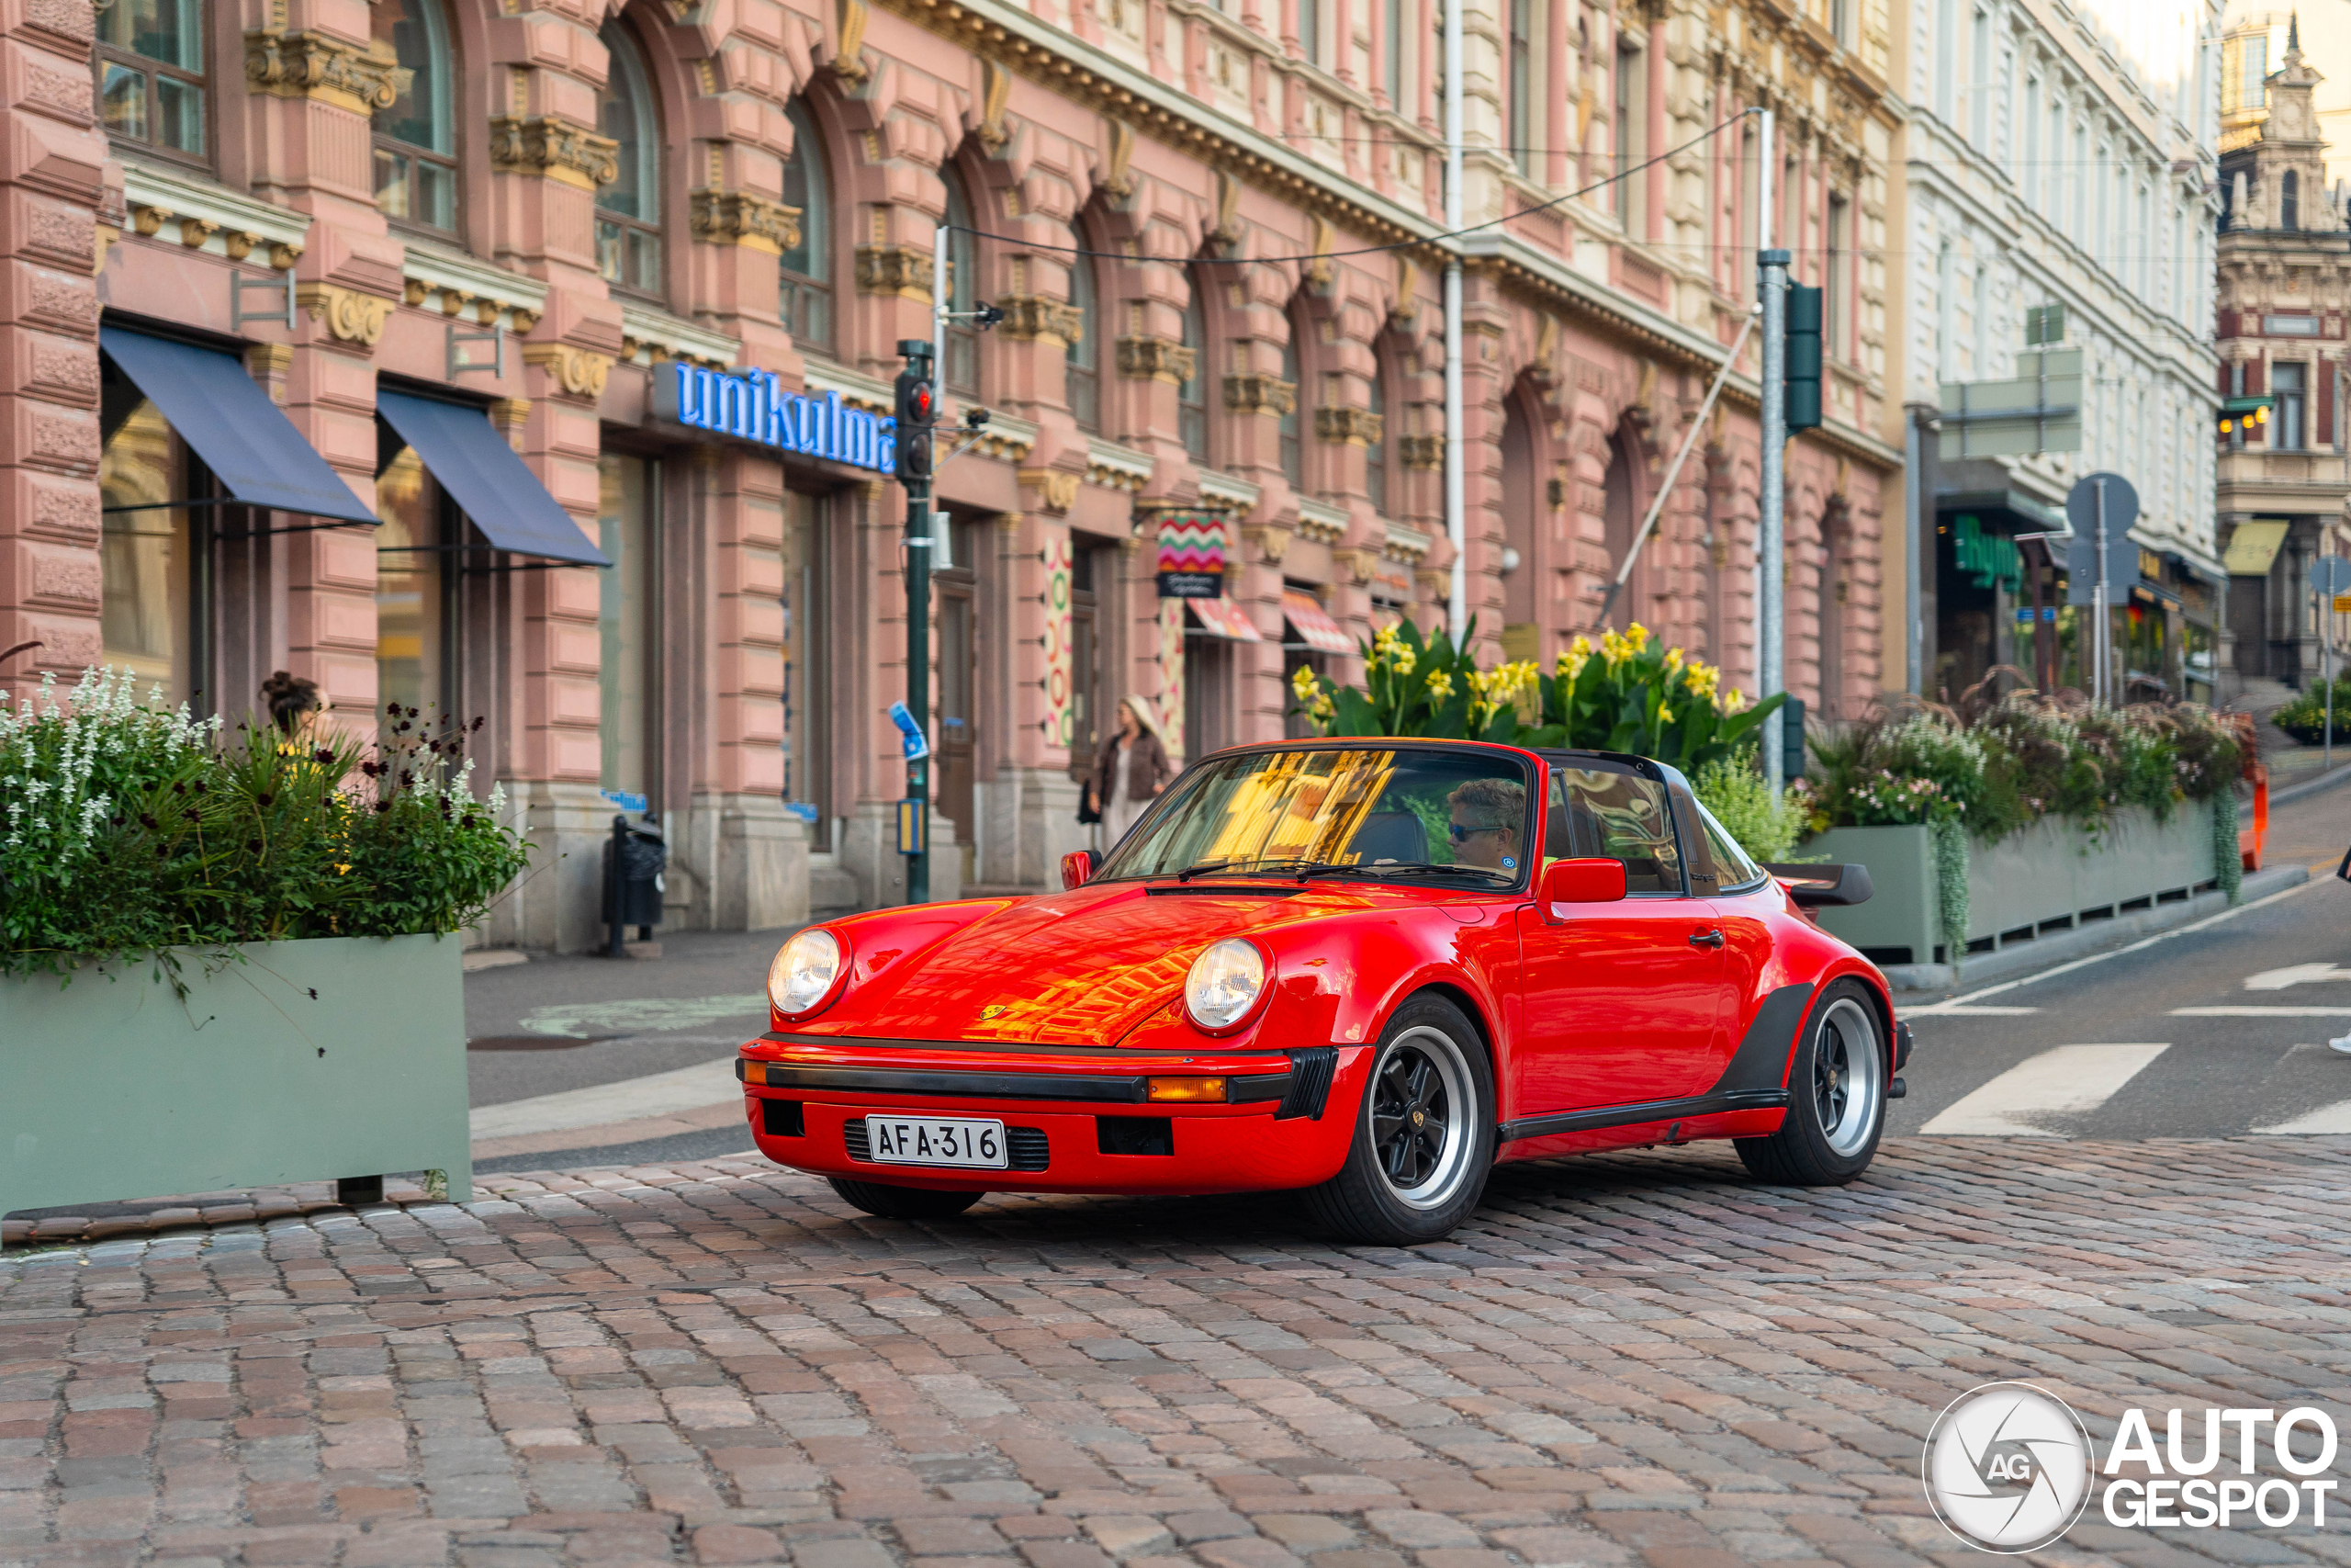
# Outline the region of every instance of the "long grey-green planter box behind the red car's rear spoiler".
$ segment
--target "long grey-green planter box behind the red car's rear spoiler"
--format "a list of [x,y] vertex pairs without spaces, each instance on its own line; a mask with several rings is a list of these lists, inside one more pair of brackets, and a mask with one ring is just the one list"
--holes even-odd
[[[2182,802],[2156,823],[2139,806],[2116,811],[2097,835],[2041,818],[1998,844],[1968,839],[1968,950],[1991,952],[2048,931],[2184,900],[2217,879],[2210,804]],[[1850,910],[1815,910],[1831,931],[1878,964],[1947,964],[1935,896],[1935,849],[1925,827],[1831,827],[1808,856],[1857,860],[1876,893]]]

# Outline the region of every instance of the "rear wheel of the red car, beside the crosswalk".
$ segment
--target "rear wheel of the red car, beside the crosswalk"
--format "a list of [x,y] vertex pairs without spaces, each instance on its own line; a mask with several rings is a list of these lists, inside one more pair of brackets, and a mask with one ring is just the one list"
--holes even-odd
[[1787,1070],[1787,1121],[1768,1138],[1735,1138],[1740,1161],[1777,1187],[1850,1182],[1886,1133],[1890,1060],[1869,990],[1860,980],[1824,990]]

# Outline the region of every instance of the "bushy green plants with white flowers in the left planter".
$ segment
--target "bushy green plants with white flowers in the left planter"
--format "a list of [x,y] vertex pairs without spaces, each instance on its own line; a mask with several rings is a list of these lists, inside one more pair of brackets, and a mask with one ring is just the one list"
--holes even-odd
[[308,936],[458,931],[524,867],[463,736],[362,755],[139,703],[127,672],[0,703],[0,973]]

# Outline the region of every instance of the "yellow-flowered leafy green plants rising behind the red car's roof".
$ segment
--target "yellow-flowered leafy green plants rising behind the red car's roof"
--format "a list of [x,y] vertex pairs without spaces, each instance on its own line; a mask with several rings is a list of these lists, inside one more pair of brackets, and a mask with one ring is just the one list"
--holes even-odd
[[1364,646],[1361,689],[1298,670],[1291,712],[1326,736],[1573,745],[1695,771],[1737,755],[1782,703],[1747,708],[1737,691],[1721,691],[1719,670],[1650,642],[1639,625],[1606,632],[1599,649],[1578,637],[1552,675],[1535,661],[1479,670],[1474,642],[1474,618],[1462,644],[1411,621],[1382,628]]

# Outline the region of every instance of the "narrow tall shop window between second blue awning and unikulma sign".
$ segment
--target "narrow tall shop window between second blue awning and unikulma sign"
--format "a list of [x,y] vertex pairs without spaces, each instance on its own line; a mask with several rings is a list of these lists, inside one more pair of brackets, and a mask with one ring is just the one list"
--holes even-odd
[[661,799],[661,463],[607,451],[597,458],[597,545],[611,562],[602,592],[604,788]]

